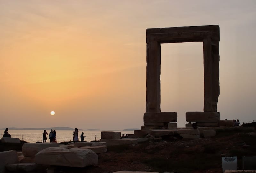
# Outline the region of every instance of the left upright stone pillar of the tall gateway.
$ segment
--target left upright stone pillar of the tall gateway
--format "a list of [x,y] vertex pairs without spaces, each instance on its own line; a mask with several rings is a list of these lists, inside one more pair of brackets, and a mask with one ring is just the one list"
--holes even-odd
[[156,41],[147,43],[146,112],[160,109],[161,45]]

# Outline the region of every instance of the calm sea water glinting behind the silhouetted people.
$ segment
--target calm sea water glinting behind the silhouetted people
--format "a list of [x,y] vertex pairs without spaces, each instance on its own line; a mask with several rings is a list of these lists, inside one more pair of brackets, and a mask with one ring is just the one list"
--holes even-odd
[[[46,142],[50,142],[49,133],[50,130],[46,130],[47,140]],[[85,141],[90,142],[92,140],[100,140],[102,130],[79,130],[78,137],[80,141],[80,135],[84,132]],[[108,131],[108,130],[106,130]],[[117,131],[117,130],[116,130]],[[9,134],[12,138],[20,138],[20,140],[27,141],[29,143],[36,143],[37,141],[42,142],[43,132],[44,130],[8,130]],[[117,131],[122,134],[133,134],[133,131]],[[4,131],[2,132],[3,137]],[[73,140],[73,130],[57,130],[56,131],[57,142],[65,142]]]

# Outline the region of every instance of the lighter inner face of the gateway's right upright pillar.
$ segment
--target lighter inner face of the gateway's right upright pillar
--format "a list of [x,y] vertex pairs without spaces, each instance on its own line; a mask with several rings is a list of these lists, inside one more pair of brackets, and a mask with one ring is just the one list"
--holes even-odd
[[204,49],[204,112],[212,112],[212,39],[203,40]]

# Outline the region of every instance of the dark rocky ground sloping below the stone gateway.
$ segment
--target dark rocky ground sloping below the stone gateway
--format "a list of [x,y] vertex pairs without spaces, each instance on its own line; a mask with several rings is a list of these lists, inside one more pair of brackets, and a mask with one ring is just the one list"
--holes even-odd
[[[108,147],[98,154],[97,166],[86,168],[51,167],[61,173],[111,173],[115,171],[150,171],[179,173],[220,173],[222,156],[256,156],[255,132],[218,132],[213,138],[184,140],[166,137],[163,141],[129,146]],[[46,172],[45,169],[42,172]]]

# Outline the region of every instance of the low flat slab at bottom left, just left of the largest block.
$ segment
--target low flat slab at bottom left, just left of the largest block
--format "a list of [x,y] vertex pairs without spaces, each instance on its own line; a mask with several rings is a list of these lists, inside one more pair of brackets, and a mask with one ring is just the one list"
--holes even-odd
[[32,172],[37,169],[36,163],[15,163],[6,165],[6,169],[11,172]]

